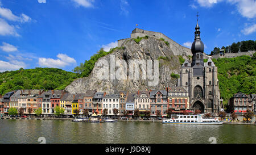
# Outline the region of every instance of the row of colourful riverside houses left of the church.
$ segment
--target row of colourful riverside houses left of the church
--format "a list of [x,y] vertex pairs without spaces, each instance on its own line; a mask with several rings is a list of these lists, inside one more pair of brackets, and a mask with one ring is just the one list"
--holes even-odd
[[118,115],[125,112],[134,115],[138,109],[141,114],[150,111],[151,116],[156,116],[159,111],[162,116],[167,116],[166,110],[172,108],[173,112],[186,112],[190,109],[189,97],[182,87],[167,87],[166,90],[138,90],[135,92],[119,91],[117,94],[106,94],[97,90],[88,90],[83,94],[71,94],[64,90],[16,90],[6,93],[0,98],[0,112],[7,115],[9,108],[24,109],[24,114],[35,114],[38,108],[42,108],[42,114],[53,115],[56,106],[64,108],[64,115],[72,116],[75,110],[83,114],[88,109],[89,114],[96,112],[103,114],[104,109],[108,115],[114,115],[114,108],[118,109]]

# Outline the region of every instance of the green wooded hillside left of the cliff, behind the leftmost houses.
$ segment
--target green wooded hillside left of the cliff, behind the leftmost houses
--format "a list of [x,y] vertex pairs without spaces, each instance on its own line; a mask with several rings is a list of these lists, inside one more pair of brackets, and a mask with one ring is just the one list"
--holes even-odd
[[0,94],[19,89],[64,90],[77,74],[57,68],[19,69],[0,73]]

